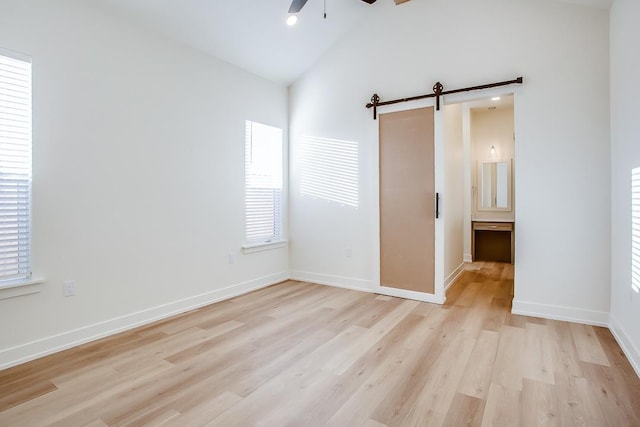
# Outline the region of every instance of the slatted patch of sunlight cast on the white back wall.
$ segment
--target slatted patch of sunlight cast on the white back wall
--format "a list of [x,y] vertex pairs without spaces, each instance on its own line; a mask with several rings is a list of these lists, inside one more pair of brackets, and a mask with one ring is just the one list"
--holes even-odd
[[305,136],[300,194],[358,207],[358,143]]

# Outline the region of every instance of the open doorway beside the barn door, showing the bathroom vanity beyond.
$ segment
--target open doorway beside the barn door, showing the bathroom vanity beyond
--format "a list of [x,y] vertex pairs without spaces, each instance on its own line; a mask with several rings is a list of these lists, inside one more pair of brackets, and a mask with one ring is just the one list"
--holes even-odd
[[471,274],[477,276],[471,282],[500,282],[510,306],[517,225],[514,94],[448,103],[443,123],[445,271],[462,265],[446,282],[447,297],[455,297],[456,283],[469,282],[464,276]]

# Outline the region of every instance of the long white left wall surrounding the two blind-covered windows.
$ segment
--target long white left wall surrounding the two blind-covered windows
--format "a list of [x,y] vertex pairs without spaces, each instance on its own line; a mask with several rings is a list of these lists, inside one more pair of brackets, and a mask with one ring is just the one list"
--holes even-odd
[[[286,130],[286,88],[87,2],[52,3],[0,2],[0,46],[33,57],[45,279],[0,300],[0,368],[288,276],[286,248],[240,252],[244,121]],[[67,279],[77,295],[63,298]]]

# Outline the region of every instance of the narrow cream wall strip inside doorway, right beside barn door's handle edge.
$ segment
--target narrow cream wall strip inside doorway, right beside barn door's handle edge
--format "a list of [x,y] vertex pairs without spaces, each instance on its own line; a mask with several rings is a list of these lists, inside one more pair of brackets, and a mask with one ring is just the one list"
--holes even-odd
[[444,194],[442,218],[444,220],[444,277],[445,286],[450,285],[462,272],[464,197],[463,148],[462,148],[462,104],[444,107]]

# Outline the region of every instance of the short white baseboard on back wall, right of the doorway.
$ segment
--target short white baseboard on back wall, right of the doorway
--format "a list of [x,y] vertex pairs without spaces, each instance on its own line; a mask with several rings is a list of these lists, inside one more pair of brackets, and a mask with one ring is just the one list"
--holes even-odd
[[586,325],[593,326],[609,326],[609,312],[607,311],[584,310],[559,305],[518,301],[514,299],[511,312],[513,314],[520,314],[523,316],[564,320],[567,322],[584,323]]

